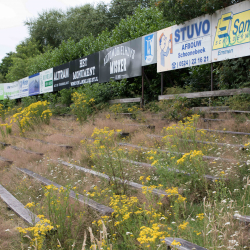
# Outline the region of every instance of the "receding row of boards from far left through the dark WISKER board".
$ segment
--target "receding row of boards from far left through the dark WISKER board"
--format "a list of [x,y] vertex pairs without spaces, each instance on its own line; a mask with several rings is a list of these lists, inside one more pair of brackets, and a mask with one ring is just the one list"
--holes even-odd
[[140,76],[141,43],[140,37],[19,81],[0,84],[0,100],[56,92],[85,83],[102,83],[111,79]]

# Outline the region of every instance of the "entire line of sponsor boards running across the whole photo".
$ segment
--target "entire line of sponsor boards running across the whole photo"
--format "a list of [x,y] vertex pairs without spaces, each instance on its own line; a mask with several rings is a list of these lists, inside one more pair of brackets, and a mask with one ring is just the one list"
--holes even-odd
[[0,85],[0,99],[20,98],[250,55],[250,2],[204,15],[132,41]]

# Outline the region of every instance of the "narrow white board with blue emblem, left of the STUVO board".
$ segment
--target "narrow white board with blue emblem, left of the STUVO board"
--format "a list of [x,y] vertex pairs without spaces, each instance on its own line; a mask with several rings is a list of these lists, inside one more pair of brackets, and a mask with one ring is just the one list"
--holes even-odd
[[142,66],[157,63],[157,32],[142,37]]

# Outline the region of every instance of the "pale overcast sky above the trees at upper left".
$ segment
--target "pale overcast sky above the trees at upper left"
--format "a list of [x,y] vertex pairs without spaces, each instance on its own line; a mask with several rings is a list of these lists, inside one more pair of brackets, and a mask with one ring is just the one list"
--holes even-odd
[[69,7],[110,3],[111,0],[0,0],[0,63],[6,53],[15,51],[16,46],[29,36],[24,21],[38,16],[49,9],[66,10]]

